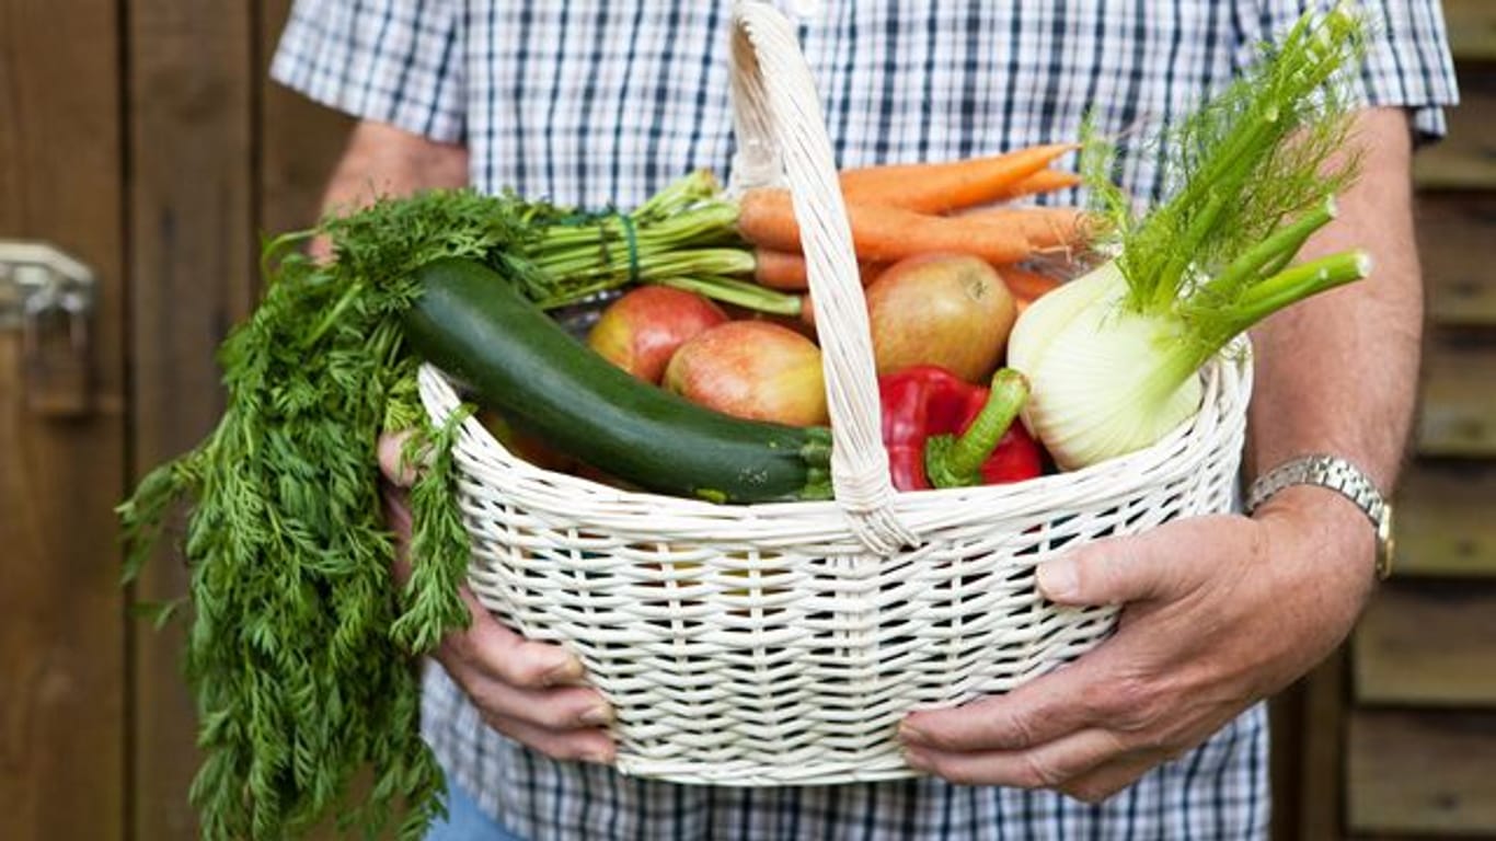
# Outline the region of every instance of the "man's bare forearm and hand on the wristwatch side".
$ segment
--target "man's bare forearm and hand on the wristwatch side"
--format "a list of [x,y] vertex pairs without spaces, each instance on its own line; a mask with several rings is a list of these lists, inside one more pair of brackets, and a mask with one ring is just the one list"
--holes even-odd
[[[1248,474],[1310,452],[1393,488],[1418,382],[1421,284],[1408,115],[1363,111],[1361,178],[1302,257],[1364,247],[1375,269],[1254,331]],[[1123,605],[1118,633],[1004,697],[905,721],[910,759],[962,783],[1059,789],[1098,801],[1177,756],[1322,660],[1373,578],[1366,516],[1296,486],[1254,519],[1206,516],[1097,542],[1040,569],[1065,605]]]

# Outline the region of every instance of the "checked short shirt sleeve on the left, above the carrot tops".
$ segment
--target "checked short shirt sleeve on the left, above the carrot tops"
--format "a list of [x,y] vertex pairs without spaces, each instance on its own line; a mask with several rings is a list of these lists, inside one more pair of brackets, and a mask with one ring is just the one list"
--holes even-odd
[[465,135],[458,0],[296,0],[271,78],[441,142]]

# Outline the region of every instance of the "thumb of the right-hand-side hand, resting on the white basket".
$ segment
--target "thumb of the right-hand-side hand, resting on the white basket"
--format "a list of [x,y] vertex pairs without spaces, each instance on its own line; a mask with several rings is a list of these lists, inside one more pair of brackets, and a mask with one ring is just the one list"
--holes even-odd
[[1225,536],[1192,518],[1167,522],[1143,534],[1107,537],[1071,549],[1038,567],[1038,588],[1059,605],[1122,605],[1168,599],[1189,588],[1201,549]]

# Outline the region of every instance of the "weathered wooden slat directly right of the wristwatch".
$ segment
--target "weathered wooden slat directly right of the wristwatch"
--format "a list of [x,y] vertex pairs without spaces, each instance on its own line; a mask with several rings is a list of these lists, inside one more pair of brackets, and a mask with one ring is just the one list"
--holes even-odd
[[1496,576],[1493,510],[1496,462],[1415,461],[1394,498],[1397,576]]

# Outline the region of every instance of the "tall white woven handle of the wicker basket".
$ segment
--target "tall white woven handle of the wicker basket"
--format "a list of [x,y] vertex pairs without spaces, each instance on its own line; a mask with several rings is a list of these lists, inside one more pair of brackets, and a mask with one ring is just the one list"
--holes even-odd
[[732,189],[790,190],[815,302],[836,504],[869,551],[889,555],[917,540],[893,512],[868,305],[820,96],[790,21],[772,4],[739,0],[732,31]]

